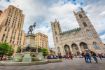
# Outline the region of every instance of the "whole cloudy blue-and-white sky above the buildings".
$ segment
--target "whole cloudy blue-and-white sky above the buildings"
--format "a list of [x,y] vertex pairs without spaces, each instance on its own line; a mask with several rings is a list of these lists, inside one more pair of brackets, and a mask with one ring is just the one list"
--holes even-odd
[[8,5],[23,10],[26,33],[29,25],[37,23],[34,32],[48,35],[49,47],[54,47],[50,22],[59,20],[62,31],[79,27],[72,11],[82,7],[105,43],[105,0],[0,0],[0,10]]

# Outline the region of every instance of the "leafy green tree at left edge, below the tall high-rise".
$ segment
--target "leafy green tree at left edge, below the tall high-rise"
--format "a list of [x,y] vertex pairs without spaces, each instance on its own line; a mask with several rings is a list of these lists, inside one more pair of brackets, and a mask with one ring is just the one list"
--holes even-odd
[[4,55],[11,56],[13,54],[14,50],[12,46],[10,46],[8,43],[0,43],[0,57],[1,60]]

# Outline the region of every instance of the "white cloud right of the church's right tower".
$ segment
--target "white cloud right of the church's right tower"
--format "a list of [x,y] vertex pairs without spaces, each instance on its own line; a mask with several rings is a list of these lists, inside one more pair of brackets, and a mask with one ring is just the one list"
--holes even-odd
[[105,43],[105,9],[102,9],[103,5],[97,6],[97,4],[87,5],[85,10],[87,11],[87,15],[89,16],[89,19],[91,20],[98,34],[103,33],[100,35],[100,38]]

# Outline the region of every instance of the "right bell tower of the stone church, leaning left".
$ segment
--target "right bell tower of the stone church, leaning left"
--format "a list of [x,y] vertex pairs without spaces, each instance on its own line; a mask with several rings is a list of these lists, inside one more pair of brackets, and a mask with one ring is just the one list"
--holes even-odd
[[92,25],[91,21],[89,20],[88,16],[86,15],[85,11],[81,8],[80,11],[74,12],[74,15],[77,19],[77,22],[84,32],[88,33],[90,36],[94,38],[98,38],[99,36]]

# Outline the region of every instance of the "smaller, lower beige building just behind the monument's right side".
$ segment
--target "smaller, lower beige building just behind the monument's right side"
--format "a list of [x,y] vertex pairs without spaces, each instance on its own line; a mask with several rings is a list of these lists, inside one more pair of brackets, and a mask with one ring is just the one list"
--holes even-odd
[[48,36],[43,33],[35,34],[35,46],[48,49]]

